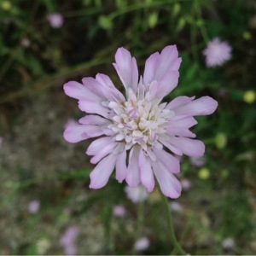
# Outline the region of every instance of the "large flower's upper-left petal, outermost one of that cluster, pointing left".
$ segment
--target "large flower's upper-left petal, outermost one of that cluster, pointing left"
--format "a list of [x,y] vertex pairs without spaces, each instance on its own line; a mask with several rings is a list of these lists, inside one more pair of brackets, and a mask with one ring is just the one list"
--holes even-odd
[[75,81],[70,81],[64,84],[64,91],[67,96],[78,100],[90,100],[95,102],[102,102],[102,98],[97,96],[94,92],[89,90],[84,86],[84,84],[80,84]]

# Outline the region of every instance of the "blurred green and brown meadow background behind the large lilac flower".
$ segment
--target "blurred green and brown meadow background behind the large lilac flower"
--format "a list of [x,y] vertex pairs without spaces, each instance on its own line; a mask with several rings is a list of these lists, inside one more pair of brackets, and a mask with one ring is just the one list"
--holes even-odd
[[[231,55],[209,67],[214,38]],[[83,116],[64,83],[106,73],[121,88],[118,47],[143,73],[169,44],[183,61],[168,101],[219,104],[193,128],[205,156],[181,160],[177,238],[190,254],[256,253],[255,0],[0,0],[0,254],[172,252],[158,192],[132,194],[114,177],[90,190],[90,142],[62,137]]]

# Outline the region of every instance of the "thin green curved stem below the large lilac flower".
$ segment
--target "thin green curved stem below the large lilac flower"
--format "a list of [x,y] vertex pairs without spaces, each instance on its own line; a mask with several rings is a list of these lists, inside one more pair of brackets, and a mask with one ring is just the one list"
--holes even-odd
[[[158,189],[160,191],[159,186],[158,186]],[[177,241],[177,237],[175,236],[175,232],[174,232],[174,229],[173,229],[173,223],[172,223],[172,212],[171,212],[168,200],[167,200],[166,196],[163,195],[163,193],[161,191],[160,191],[160,195],[161,195],[161,199],[162,199],[162,201],[165,205],[165,208],[166,208],[168,229],[170,230],[170,236],[171,236],[172,244],[174,246],[174,251],[177,252],[177,253],[180,253],[181,255],[187,255],[188,253],[186,253],[183,250],[183,247],[181,247],[181,245]]]

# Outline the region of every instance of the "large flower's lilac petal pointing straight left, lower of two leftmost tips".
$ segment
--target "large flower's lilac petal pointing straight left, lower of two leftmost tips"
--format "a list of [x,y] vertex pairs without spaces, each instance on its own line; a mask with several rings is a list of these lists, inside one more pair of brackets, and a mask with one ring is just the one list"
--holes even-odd
[[102,127],[96,125],[72,125],[64,131],[64,138],[68,143],[79,143],[90,137],[103,134]]

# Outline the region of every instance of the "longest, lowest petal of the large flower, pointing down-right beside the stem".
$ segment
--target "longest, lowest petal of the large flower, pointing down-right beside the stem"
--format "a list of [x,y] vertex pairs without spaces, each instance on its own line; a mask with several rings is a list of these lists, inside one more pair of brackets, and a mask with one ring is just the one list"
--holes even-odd
[[160,189],[164,195],[177,198],[181,194],[182,186],[171,172],[169,172],[159,161],[153,162],[153,171],[158,183],[160,184]]

